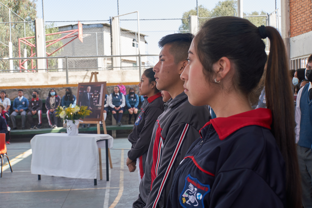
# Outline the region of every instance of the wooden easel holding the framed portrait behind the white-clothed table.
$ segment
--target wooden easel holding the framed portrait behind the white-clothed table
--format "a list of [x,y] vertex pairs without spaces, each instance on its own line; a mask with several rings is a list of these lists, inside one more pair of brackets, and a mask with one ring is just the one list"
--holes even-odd
[[[95,78],[95,82],[97,81],[97,77],[96,75],[98,74],[98,72],[91,72],[91,77],[90,77],[90,81],[92,82],[92,77],[94,75]],[[104,134],[107,134],[107,130],[106,130],[106,125],[105,125],[105,121],[104,121],[104,113],[103,113],[103,130],[104,130]],[[97,128],[97,134],[100,134],[100,121],[83,121],[83,122],[79,122],[79,124],[96,124],[96,128]],[[77,128],[79,128],[79,124],[77,125]],[[113,164],[112,164],[112,158],[110,157],[110,148],[108,148],[108,158],[110,160],[110,168],[113,168]],[[102,155],[101,155],[101,148],[99,148],[99,163],[100,163],[100,180],[103,179],[103,174],[102,174]],[[108,171],[108,170],[106,170]]]

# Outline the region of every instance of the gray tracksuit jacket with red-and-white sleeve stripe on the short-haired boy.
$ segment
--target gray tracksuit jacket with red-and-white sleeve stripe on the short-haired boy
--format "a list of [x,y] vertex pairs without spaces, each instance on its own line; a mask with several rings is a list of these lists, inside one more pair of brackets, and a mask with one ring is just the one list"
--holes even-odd
[[134,208],[166,206],[175,170],[210,119],[208,107],[192,106],[184,92],[165,103],[165,111],[154,125]]

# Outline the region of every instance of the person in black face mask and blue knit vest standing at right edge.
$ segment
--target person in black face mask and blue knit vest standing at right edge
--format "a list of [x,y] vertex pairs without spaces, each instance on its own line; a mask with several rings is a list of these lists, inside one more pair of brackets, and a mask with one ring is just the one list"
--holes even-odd
[[297,94],[295,121],[296,143],[301,173],[302,204],[312,207],[312,55],[308,58],[305,78],[309,83]]

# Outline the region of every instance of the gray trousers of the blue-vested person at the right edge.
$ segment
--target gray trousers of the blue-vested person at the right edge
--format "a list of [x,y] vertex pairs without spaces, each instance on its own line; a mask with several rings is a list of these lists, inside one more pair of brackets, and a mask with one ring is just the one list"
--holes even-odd
[[312,151],[311,148],[297,145],[299,170],[301,174],[302,205],[312,207]]

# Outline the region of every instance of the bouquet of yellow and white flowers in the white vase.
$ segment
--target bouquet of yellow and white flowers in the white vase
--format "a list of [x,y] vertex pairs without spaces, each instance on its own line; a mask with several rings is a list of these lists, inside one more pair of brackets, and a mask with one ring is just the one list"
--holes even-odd
[[91,111],[87,110],[88,106],[75,106],[74,108],[71,107],[62,107],[58,106],[56,109],[56,116],[61,117],[62,119],[71,120],[75,124],[75,120],[80,118],[84,119],[86,116],[89,116]]

